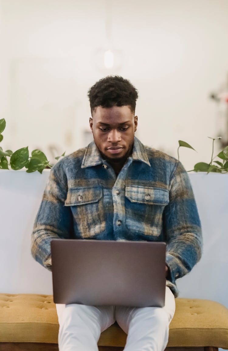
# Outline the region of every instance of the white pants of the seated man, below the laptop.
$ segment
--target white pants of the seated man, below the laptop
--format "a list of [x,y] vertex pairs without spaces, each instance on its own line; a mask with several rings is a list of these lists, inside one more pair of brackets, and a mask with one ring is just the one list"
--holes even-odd
[[166,287],[164,307],[115,307],[56,304],[59,351],[98,351],[102,331],[115,320],[127,334],[125,351],[163,351],[168,343],[169,324],[175,299]]

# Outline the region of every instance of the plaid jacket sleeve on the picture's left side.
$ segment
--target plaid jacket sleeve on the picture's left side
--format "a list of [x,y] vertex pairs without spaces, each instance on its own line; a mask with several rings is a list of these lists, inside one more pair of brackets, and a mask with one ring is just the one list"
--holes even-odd
[[67,179],[63,172],[59,177],[56,168],[60,167],[54,166],[50,170],[32,232],[32,256],[48,270],[51,270],[51,240],[69,239],[72,228],[70,207],[64,206]]

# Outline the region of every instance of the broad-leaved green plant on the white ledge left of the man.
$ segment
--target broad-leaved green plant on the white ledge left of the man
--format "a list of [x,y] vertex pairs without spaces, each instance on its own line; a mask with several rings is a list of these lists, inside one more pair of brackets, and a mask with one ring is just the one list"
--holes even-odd
[[[4,118],[0,119],[0,142],[3,139],[1,134],[6,127],[6,121]],[[55,157],[58,160],[60,157],[64,156],[65,152],[58,157]],[[49,161],[46,155],[40,150],[33,150],[31,156],[29,156],[28,146],[22,147],[19,150],[13,152],[12,150],[3,151],[0,147],[0,168],[8,170],[9,166],[12,170],[20,170],[21,168],[27,168],[26,172],[32,173],[38,171],[42,173],[44,168],[51,168],[53,165],[49,164]]]

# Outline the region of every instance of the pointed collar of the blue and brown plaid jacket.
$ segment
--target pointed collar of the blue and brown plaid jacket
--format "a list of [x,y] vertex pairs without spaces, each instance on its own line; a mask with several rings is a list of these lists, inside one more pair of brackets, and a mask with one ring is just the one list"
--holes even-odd
[[[150,166],[150,161],[148,160],[145,147],[136,137],[134,137],[134,146],[131,157],[135,161],[141,161]],[[103,162],[101,153],[96,147],[94,141],[92,141],[92,143],[90,143],[85,149],[81,168],[97,166]]]

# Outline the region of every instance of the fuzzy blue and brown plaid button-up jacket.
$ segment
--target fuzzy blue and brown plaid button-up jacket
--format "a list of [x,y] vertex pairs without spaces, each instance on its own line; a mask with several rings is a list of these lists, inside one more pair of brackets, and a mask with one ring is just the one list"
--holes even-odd
[[94,142],[51,168],[32,233],[33,257],[48,269],[54,238],[165,241],[175,296],[175,280],[191,271],[202,247],[184,167],[137,138],[118,177]]

